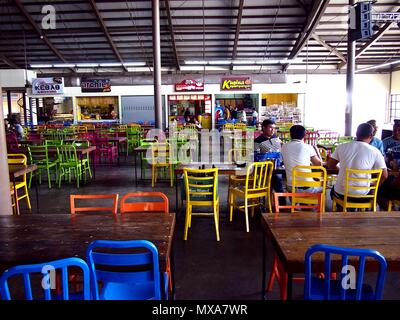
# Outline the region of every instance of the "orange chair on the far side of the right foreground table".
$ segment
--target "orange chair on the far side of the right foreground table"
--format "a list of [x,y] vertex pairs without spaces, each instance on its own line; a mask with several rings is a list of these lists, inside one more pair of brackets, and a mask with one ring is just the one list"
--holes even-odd
[[[317,203],[312,204],[297,204],[291,201],[290,205],[280,205],[279,198],[280,197],[290,197],[295,199],[296,197],[301,198],[310,198],[317,200]],[[282,210],[287,209],[289,212],[301,212],[304,211],[316,211],[322,212],[322,193],[274,193],[274,209],[275,215],[278,216],[278,213],[282,212]],[[294,211],[292,211],[294,210]],[[314,212],[312,212],[314,213]],[[267,292],[272,291],[272,287],[274,285],[275,278],[278,281],[279,288],[281,291],[281,300],[287,300],[287,284],[288,284],[288,274],[285,272],[281,262],[279,261],[276,253],[274,254],[274,262],[272,264],[272,270],[268,279]],[[304,278],[293,278],[294,282],[303,282]]]

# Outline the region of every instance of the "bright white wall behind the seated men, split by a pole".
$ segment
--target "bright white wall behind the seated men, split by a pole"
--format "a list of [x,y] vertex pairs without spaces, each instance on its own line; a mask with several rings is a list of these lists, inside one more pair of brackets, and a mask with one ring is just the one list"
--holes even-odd
[[[389,74],[356,74],[353,90],[352,134],[357,126],[375,119],[382,128],[389,95]],[[308,75],[306,125],[344,134],[346,75]],[[377,136],[380,136],[378,129]]]

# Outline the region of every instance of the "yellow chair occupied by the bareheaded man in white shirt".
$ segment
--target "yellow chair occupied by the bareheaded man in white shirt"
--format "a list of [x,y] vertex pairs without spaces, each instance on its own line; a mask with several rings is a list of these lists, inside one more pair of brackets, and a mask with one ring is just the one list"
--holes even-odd
[[[292,170],[292,193],[304,192],[307,188],[321,189],[321,212],[325,212],[326,182],[327,173],[322,166],[295,166]],[[316,199],[308,197],[294,197],[293,200],[296,203],[316,204]]]

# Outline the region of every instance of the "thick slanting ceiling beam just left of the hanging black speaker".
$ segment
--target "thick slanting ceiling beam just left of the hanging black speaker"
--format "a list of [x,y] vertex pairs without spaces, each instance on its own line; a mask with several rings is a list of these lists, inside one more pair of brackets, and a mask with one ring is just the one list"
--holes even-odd
[[[314,1],[314,6],[311,9],[311,12],[307,16],[306,23],[303,27],[302,32],[299,34],[296,43],[293,46],[292,52],[290,53],[288,59],[295,59],[296,56],[299,54],[301,49],[305,46],[308,39],[311,37],[312,33],[314,32],[315,28],[317,27],[319,21],[322,18],[326,8],[328,7],[329,0],[317,0]],[[287,68],[289,67],[290,63],[285,63],[282,66],[282,71],[286,72]]]

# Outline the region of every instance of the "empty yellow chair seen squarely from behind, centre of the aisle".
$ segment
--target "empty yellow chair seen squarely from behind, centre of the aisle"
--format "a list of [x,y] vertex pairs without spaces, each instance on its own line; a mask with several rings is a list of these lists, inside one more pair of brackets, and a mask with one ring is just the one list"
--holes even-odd
[[[217,241],[219,237],[218,169],[183,169],[185,184],[186,218],[183,240],[187,240],[192,216],[212,216],[215,222]],[[211,206],[212,212],[193,212],[193,207]]]

